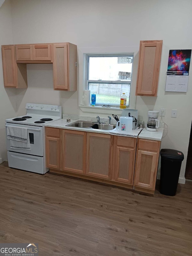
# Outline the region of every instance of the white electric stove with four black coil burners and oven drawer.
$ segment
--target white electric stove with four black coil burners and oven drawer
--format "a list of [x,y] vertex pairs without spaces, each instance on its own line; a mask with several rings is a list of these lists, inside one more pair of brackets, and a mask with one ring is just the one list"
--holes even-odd
[[27,128],[31,149],[13,149],[10,147],[10,139],[7,139],[8,165],[44,174],[49,170],[46,168],[44,125],[61,119],[61,106],[27,103],[26,110],[26,115],[6,119],[6,134],[7,126]]

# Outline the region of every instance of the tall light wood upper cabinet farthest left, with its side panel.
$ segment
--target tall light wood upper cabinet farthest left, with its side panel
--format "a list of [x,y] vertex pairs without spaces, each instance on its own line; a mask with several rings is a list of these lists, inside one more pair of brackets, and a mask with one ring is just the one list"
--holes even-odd
[[4,87],[27,88],[27,68],[16,63],[15,46],[2,45]]

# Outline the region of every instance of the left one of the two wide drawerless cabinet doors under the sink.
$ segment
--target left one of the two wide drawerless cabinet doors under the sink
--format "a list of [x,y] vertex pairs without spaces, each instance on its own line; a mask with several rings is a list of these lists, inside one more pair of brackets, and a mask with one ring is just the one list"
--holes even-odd
[[86,132],[63,130],[62,169],[85,174]]

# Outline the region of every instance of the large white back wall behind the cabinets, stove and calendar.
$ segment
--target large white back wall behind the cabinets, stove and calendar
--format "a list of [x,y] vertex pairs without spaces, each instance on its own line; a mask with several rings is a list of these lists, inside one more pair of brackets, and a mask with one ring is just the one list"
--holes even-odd
[[[192,1],[14,0],[11,3],[14,44],[71,42],[78,48],[139,49],[140,40],[163,40],[158,97],[137,97],[136,108],[144,120],[149,109],[166,108],[164,121],[169,131],[162,140],[162,148],[184,153],[180,173],[184,178],[192,120],[192,71],[187,93],[165,93],[165,82],[169,50],[191,48]],[[31,64],[27,69],[29,87],[16,92],[18,114],[24,114],[26,102],[32,101],[61,104],[63,113],[81,113],[78,92],[52,90],[51,64]],[[170,117],[171,109],[178,109],[176,119]]]

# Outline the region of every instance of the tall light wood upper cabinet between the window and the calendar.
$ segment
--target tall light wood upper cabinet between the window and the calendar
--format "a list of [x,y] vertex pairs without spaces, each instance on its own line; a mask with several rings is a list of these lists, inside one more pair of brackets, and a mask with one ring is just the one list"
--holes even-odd
[[136,95],[157,96],[162,40],[140,41]]

